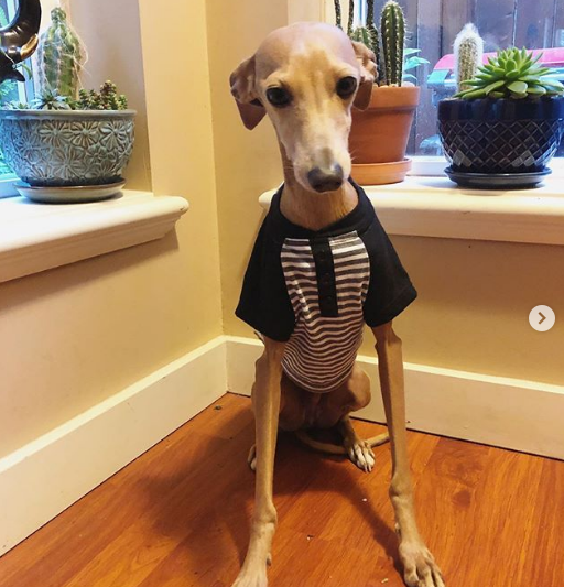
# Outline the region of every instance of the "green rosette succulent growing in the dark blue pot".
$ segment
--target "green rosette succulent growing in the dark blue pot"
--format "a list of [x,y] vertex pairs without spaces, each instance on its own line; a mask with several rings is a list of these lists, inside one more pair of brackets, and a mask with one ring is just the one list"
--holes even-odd
[[455,98],[471,100],[477,98],[536,98],[540,96],[558,96],[564,93],[564,86],[546,78],[551,73],[549,67],[539,65],[542,53],[536,57],[532,51],[516,47],[500,51],[496,57],[489,57],[488,63],[478,67],[473,79],[462,81],[468,89],[455,94]]

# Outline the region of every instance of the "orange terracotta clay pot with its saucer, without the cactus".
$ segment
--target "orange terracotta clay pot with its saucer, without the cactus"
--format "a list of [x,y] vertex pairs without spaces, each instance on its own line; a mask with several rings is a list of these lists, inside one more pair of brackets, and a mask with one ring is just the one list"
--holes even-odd
[[375,87],[366,110],[352,111],[352,177],[364,185],[402,182],[411,169],[405,149],[419,104],[415,86]]

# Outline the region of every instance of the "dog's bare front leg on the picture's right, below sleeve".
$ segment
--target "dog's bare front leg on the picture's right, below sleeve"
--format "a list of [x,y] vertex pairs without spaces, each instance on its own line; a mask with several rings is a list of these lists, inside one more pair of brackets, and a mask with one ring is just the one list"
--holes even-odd
[[391,322],[372,328],[380,388],[392,450],[390,498],[400,537],[400,558],[410,587],[444,587],[441,570],[423,542],[415,520],[405,434],[405,395],[401,340]]

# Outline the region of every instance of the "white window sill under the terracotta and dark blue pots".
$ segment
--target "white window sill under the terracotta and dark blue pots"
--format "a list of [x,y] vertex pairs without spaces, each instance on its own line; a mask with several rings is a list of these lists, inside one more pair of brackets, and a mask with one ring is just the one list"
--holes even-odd
[[[411,176],[365,191],[389,235],[564,244],[564,191],[555,176],[535,189],[467,189],[446,177]],[[274,193],[260,196],[263,208]]]

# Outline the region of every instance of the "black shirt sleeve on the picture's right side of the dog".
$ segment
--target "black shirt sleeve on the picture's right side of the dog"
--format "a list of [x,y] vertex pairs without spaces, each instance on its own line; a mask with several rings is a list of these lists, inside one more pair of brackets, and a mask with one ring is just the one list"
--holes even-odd
[[361,238],[370,257],[364,314],[365,322],[373,328],[401,314],[417,297],[417,292],[378,218]]

